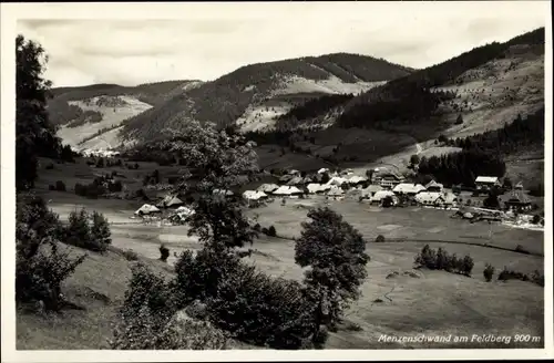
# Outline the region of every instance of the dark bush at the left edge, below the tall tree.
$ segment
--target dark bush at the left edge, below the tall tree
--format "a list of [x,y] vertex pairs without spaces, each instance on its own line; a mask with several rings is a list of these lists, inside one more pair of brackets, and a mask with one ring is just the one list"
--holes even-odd
[[18,196],[16,212],[16,300],[59,310],[61,284],[86,255],[70,258],[59,249],[63,228],[42,198]]

